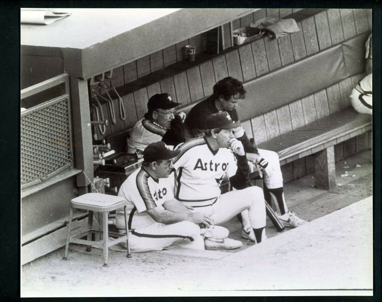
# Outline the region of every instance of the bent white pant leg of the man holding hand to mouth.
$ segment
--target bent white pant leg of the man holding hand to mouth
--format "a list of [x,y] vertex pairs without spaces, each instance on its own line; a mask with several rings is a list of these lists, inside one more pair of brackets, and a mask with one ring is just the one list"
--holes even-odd
[[212,205],[214,224],[222,224],[248,210],[251,227],[259,229],[265,226],[265,200],[260,187],[248,187],[242,190],[227,192],[218,197]]

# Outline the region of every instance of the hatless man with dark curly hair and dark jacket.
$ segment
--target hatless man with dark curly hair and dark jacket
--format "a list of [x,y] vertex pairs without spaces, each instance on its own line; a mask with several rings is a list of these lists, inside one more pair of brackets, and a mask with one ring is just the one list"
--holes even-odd
[[[243,83],[235,78],[227,77],[217,82],[213,87],[213,94],[206,100],[197,103],[189,111],[185,124],[194,137],[202,136],[207,129],[207,117],[213,113],[226,111],[230,118],[238,122],[239,117],[236,107],[239,100],[244,99],[246,90]],[[255,105],[255,104],[254,104]],[[251,144],[244,129],[241,126],[235,128],[235,137],[244,146],[249,161],[254,166],[264,172],[264,196],[268,203],[273,201],[280,209],[280,220],[285,226],[296,228],[306,223],[299,218],[295,212],[288,210],[283,192],[283,176],[280,169],[280,160],[276,152],[257,149],[256,145]],[[187,137],[186,137],[187,139]],[[239,218],[239,217],[238,217]],[[243,230],[242,237],[248,238],[246,230],[246,215],[241,218]],[[239,218],[240,220],[240,218]]]

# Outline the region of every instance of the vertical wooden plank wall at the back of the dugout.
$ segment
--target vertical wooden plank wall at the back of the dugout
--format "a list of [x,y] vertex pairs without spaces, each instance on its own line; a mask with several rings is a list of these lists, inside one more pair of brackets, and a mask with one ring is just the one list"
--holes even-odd
[[[113,103],[117,119],[115,125],[110,123],[107,105],[103,105],[104,115],[109,119],[105,136],[131,128],[138,119],[143,117],[147,110],[147,101],[155,93],[167,92],[174,100],[182,104],[195,102],[209,96],[214,84],[225,76],[249,81],[371,29],[369,10],[332,8],[299,21],[300,31],[281,39],[271,40],[264,37],[246,45],[232,47],[231,39],[229,39],[229,32],[232,29],[248,26],[249,23],[265,16],[282,18],[298,10],[300,9],[261,9],[234,20],[231,24],[223,25],[224,48],[228,48],[220,55],[212,55],[210,58],[205,55],[204,60],[196,60],[193,63],[185,61],[185,45],[195,45],[196,53],[206,50],[206,34],[204,33],[115,69],[113,84],[116,87],[131,84],[131,91],[122,97],[126,110],[125,121],[119,118],[118,100],[114,100]],[[362,76],[359,74],[344,79],[282,108],[244,121],[243,126],[248,137],[260,143],[349,107],[348,95],[355,85],[354,81]],[[97,89],[97,86],[93,88]],[[104,93],[103,88],[99,91],[101,94]],[[99,139],[104,138],[99,133],[98,135]],[[365,137],[360,137],[354,139],[354,142],[343,142],[337,145],[336,160],[363,148],[356,147],[357,141],[359,146],[363,146],[367,140]],[[299,171],[307,171],[307,163],[305,163],[305,169],[301,168],[301,162],[295,165],[299,166]],[[285,169],[293,171],[293,164]],[[295,174],[301,173],[295,172]]]

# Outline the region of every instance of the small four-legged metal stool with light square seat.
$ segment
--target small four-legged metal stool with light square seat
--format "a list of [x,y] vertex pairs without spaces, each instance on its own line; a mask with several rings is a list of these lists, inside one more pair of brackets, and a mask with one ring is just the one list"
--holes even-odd
[[[116,210],[117,208],[125,208],[125,226],[127,229],[127,220],[126,220],[126,200],[123,197],[120,196],[113,196],[113,195],[106,195],[106,194],[100,194],[100,193],[87,193],[84,195],[81,195],[79,197],[76,197],[71,200],[70,202],[70,217],[69,217],[69,224],[68,224],[68,236],[66,237],[66,245],[65,245],[65,256],[63,257],[63,260],[68,260],[66,256],[68,255],[68,247],[69,243],[78,243],[78,244],[86,244],[87,248],[86,251],[91,251],[91,245],[99,248],[103,248],[104,250],[104,266],[107,265],[107,256],[108,256],[108,248],[109,246],[118,244],[124,240],[126,240],[127,243],[127,255],[126,257],[130,258],[130,247],[129,247],[129,233],[126,235],[115,233],[115,232],[109,232],[108,231],[108,213],[110,211]],[[87,231],[84,231],[76,236],[70,237],[70,231],[71,231],[71,220],[73,216],[73,208],[83,209],[89,211],[89,217],[87,222]],[[103,230],[95,230],[92,229],[93,227],[93,212],[101,212],[103,217]],[[92,241],[92,234],[96,233],[102,233],[103,234],[103,240],[102,241]],[[87,240],[79,239],[81,237],[84,237],[87,235]],[[115,240],[108,239],[109,235],[112,235],[114,237],[119,237]]]

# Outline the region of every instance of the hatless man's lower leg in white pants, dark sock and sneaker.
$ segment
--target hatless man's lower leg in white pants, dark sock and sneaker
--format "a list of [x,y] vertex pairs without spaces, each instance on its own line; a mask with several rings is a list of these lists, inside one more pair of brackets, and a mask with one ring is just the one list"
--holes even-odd
[[284,196],[283,175],[280,168],[280,160],[276,152],[258,149],[262,158],[268,161],[269,165],[274,168],[274,173],[271,177],[268,177],[264,173],[264,198],[269,203],[278,206],[280,212],[280,220],[285,226],[296,228],[304,223],[305,220],[299,218],[295,212],[288,209]]

